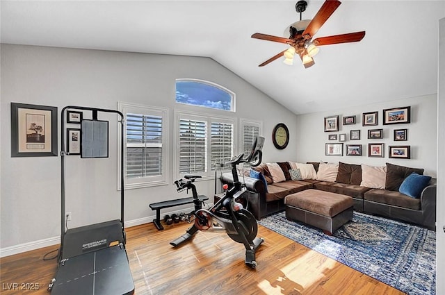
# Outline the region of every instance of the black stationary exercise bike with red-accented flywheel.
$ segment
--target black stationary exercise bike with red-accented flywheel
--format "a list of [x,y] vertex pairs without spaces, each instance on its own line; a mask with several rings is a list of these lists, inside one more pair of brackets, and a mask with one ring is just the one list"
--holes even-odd
[[250,163],[253,167],[261,163],[262,152],[261,149],[264,144],[264,137],[257,137],[252,146],[252,151],[246,159],[241,153],[233,160],[225,163],[232,167],[232,176],[234,185],[225,191],[223,198],[217,201],[211,208],[202,209],[202,201],[193,184],[195,179],[201,178],[198,175],[186,175],[185,179],[175,181],[177,191],[181,192],[184,189],[191,189],[193,193],[193,203],[195,210],[192,214],[195,216],[194,224],[184,235],[178,237],[170,242],[172,246],[179,246],[188,241],[197,233],[198,230],[210,230],[219,233],[227,233],[235,242],[244,244],[245,247],[245,264],[254,269],[257,267],[255,261],[255,252],[259,245],[264,242],[264,239],[257,237],[258,226],[257,220],[248,210],[243,208],[241,203],[236,200],[245,192],[244,185],[238,180],[236,165],[240,163]]

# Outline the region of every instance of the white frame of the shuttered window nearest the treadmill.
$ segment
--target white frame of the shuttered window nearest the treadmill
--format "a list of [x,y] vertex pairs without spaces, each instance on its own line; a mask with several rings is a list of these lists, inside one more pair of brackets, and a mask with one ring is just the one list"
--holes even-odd
[[[127,167],[127,113],[131,114],[138,114],[138,115],[154,115],[162,117],[162,127],[161,127],[161,133],[162,133],[162,168],[161,168],[161,175],[158,176],[145,176],[140,178],[127,178],[127,175],[124,176],[124,189],[137,189],[142,187],[154,187],[159,185],[168,185],[168,160],[169,160],[169,124],[170,124],[170,118],[169,118],[169,110],[168,108],[160,108],[160,107],[154,107],[154,106],[146,106],[141,105],[138,103],[128,103],[128,102],[122,102],[118,101],[118,110],[122,112],[124,115],[124,149],[123,156],[124,156],[124,173],[126,174],[126,167]],[[118,128],[118,136],[121,136],[121,130]],[[121,153],[120,145],[118,145],[118,155]],[[120,162],[118,163],[118,190],[121,189],[120,187]]]

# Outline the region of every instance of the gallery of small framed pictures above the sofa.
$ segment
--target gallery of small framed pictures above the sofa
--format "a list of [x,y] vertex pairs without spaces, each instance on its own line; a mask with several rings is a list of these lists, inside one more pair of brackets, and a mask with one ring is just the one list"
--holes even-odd
[[[359,119],[362,121],[359,122]],[[324,131],[329,132],[327,135],[329,143],[326,143],[325,155],[362,155],[363,146],[367,149],[367,153],[365,151],[363,155],[368,157],[410,159],[411,146],[401,145],[401,142],[409,141],[409,128],[399,128],[398,124],[411,124],[411,121],[411,106],[387,108],[381,112],[373,110],[359,115],[327,116],[324,118]],[[359,125],[362,128],[357,128]],[[363,142],[364,140],[367,142]],[[387,151],[385,151],[385,143],[378,140],[386,142]]]

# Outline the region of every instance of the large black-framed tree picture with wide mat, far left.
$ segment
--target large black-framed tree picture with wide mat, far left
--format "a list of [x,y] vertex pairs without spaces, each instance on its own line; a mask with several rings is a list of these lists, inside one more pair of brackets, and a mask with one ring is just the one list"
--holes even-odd
[[11,157],[57,156],[57,132],[57,107],[11,103]]

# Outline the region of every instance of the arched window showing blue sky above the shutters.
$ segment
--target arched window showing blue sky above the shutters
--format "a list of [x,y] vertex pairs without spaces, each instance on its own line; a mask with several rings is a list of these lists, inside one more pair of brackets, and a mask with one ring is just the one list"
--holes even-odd
[[227,88],[197,79],[176,80],[176,102],[234,112],[235,94]]

